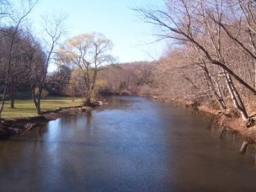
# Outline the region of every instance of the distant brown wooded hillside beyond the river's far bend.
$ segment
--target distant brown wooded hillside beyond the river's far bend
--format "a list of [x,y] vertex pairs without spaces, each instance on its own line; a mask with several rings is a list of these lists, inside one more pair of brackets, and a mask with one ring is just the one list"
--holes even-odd
[[99,79],[106,83],[99,92],[102,95],[143,95],[154,94],[153,62],[122,63],[108,66],[107,71],[99,72]]

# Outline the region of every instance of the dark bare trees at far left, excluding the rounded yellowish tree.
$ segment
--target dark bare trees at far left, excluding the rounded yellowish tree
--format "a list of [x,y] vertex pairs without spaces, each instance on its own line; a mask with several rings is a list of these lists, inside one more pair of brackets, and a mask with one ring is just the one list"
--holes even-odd
[[37,0],[0,1],[0,88],[3,91],[0,117],[6,95],[10,95],[11,108],[14,108],[17,88],[22,85],[25,89],[30,86],[36,111],[41,113],[40,100],[49,65],[64,32],[65,17],[44,17],[44,38],[37,38],[28,25],[29,14],[37,3]]

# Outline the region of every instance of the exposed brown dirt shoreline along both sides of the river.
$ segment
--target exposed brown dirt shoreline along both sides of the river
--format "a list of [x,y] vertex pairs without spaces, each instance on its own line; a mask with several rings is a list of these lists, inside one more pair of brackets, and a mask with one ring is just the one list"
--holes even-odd
[[[243,140],[241,152],[245,152],[247,147],[256,148],[256,125],[252,128],[246,128],[241,118],[226,116],[221,113],[220,110],[211,108],[206,104],[200,104],[189,100],[173,100],[158,97],[151,97],[151,99],[192,109],[193,113],[207,116],[207,118],[209,118],[209,122],[211,123],[211,127],[219,130],[221,138],[226,132],[230,132],[236,134],[236,136]],[[32,129],[33,127],[45,124],[51,120],[62,118],[63,116],[88,113],[92,111],[95,106],[96,105],[60,108],[52,111],[46,111],[42,115],[33,117],[4,118],[1,120],[2,132],[0,132],[0,140],[10,138],[10,136],[19,134],[20,132],[29,131],[29,129]],[[243,146],[245,148],[243,148]]]

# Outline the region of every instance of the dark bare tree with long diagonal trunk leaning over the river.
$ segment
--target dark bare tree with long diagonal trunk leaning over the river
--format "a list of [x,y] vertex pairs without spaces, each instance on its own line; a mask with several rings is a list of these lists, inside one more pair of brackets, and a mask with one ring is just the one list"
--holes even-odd
[[202,20],[198,19],[198,15],[202,15],[200,10],[202,4],[198,1],[173,0],[167,2],[168,10],[146,10],[135,9],[141,13],[147,20],[146,22],[154,24],[163,29],[164,33],[159,34],[161,38],[175,39],[182,42],[195,45],[207,60],[213,65],[218,65],[233,76],[239,83],[243,84],[248,90],[256,94],[255,88],[246,83],[240,76],[231,70],[226,63],[220,61],[211,54],[209,48],[206,47],[200,39],[207,33],[202,25]]

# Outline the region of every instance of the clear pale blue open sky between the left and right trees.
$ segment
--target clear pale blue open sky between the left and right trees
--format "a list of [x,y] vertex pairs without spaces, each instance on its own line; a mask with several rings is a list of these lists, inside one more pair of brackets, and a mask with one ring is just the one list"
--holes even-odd
[[100,32],[112,40],[118,61],[144,61],[159,58],[165,46],[164,42],[148,45],[156,40],[154,28],[131,10],[147,5],[161,7],[164,0],[40,0],[31,19],[39,26],[45,12],[67,13],[68,36]]

